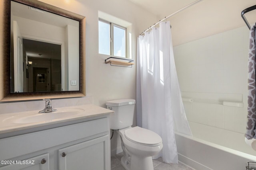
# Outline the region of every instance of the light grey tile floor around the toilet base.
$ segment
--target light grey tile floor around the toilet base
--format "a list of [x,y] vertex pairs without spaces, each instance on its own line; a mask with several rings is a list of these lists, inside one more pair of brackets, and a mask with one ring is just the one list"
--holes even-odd
[[[123,154],[120,153],[111,157],[111,170],[125,170],[120,162],[122,156]],[[193,170],[181,162],[179,162],[179,164],[166,164],[163,162],[162,158],[153,160],[153,165],[154,170]]]

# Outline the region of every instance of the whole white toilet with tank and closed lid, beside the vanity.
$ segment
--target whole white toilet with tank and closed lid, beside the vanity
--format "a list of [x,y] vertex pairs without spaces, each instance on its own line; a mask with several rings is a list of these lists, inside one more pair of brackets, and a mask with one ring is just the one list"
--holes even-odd
[[135,100],[111,100],[106,106],[114,111],[110,115],[110,129],[116,130],[121,137],[122,166],[126,170],[154,170],[152,156],[162,150],[162,138],[148,129],[131,127]]

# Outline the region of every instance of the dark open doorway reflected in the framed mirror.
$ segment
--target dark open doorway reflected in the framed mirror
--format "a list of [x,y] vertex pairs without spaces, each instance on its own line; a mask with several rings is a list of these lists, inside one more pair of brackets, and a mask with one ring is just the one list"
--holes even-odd
[[61,45],[26,38],[23,44],[26,92],[62,91]]

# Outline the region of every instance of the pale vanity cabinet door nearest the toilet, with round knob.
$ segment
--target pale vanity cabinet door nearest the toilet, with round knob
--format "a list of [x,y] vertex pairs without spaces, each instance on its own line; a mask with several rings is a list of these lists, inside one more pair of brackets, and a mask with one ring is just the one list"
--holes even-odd
[[109,136],[59,150],[60,170],[110,170]]

